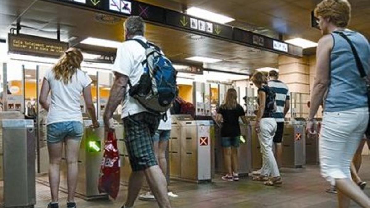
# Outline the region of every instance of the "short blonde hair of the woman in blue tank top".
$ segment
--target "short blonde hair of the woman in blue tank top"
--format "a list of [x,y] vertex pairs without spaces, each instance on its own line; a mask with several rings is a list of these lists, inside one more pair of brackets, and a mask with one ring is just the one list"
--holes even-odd
[[351,19],[351,4],[347,0],[323,0],[314,11],[316,17],[330,18],[338,27],[347,27]]

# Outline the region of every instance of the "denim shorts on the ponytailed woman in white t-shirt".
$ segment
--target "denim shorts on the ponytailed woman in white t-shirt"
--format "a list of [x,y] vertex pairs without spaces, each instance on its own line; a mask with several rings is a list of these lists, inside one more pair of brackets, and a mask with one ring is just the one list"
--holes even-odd
[[58,143],[65,139],[81,140],[83,124],[79,121],[65,121],[47,125],[47,142]]

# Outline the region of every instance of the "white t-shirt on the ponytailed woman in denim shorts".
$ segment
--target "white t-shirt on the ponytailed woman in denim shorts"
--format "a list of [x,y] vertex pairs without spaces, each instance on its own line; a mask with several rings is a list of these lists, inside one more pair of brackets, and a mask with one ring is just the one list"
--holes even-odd
[[87,73],[77,70],[68,84],[64,84],[63,80],[56,80],[53,70],[46,73],[45,79],[49,82],[51,91],[47,125],[64,121],[82,123],[81,95],[84,88],[92,82]]

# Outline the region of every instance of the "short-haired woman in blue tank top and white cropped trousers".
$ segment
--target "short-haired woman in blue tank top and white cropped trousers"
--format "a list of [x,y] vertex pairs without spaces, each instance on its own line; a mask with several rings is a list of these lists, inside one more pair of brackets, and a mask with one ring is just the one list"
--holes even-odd
[[358,51],[361,63],[370,74],[370,47],[360,33],[346,29],[351,5],[347,0],[323,0],[315,16],[323,37],[316,52],[316,80],[307,131],[314,134],[314,116],[324,100],[320,137],[321,175],[338,191],[339,207],[349,207],[353,199],[361,207],[370,207],[370,199],[351,180],[350,164],[364,135],[369,111],[366,81],[361,78],[348,37]]

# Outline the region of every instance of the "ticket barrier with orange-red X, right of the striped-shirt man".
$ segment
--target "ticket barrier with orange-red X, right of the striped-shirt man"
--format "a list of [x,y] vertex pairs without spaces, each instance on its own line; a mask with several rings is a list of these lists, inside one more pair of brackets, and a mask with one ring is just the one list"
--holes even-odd
[[304,119],[284,126],[282,167],[302,168],[306,164],[306,129]]

